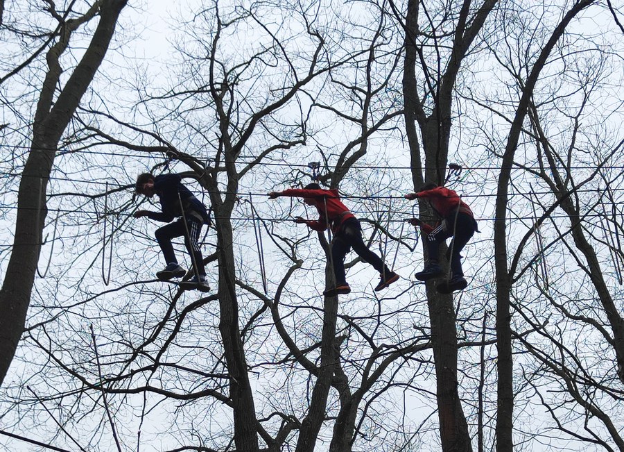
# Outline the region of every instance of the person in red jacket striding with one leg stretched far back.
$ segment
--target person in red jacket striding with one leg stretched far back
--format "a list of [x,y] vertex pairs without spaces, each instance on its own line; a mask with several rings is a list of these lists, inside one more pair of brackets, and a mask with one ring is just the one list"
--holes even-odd
[[379,256],[368,249],[362,238],[360,221],[340,202],[338,190],[323,190],[318,183],[310,183],[303,189],[291,188],[283,192],[270,192],[268,196],[270,199],[275,199],[278,196],[303,198],[304,203],[314,206],[318,210],[319,219],[313,221],[297,217],[295,218],[295,223],[306,224],[314,231],[324,231],[328,227],[331,228],[333,232],[331,263],[333,275],[336,279],[336,287],[325,290],[323,292],[325,296],[351,292],[351,287],[347,284],[344,262],[345,256],[347,256],[351,248],[362,260],[372,265],[376,271],[379,271],[380,281],[375,287],[376,291],[388,287],[399,279],[399,275],[391,271]]

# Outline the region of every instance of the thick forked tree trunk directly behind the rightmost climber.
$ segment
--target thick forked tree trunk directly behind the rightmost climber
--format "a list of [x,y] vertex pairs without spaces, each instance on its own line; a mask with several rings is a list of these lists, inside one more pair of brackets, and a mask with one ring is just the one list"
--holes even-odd
[[[417,94],[415,67],[419,62],[416,48],[418,33],[418,0],[408,2],[406,15],[405,65],[404,65],[404,102],[405,121],[410,157],[412,178],[415,188],[424,182],[444,183],[444,169],[447,166],[449,136],[451,131],[451,102],[450,93],[461,62],[463,51],[453,54],[450,66],[453,73],[447,74],[445,85],[437,91],[436,106],[433,113],[425,115],[421,101]],[[461,34],[461,31],[459,32]],[[462,42],[468,45],[469,42]],[[440,81],[435,83],[440,88]],[[433,84],[432,84],[433,86]],[[418,142],[415,122],[418,122],[422,134],[425,169],[422,169],[422,153]],[[422,217],[431,216],[426,206],[420,204]],[[426,249],[424,249],[425,258]],[[443,256],[443,255],[442,255]],[[456,319],[452,296],[442,296],[435,290],[433,283],[427,285],[429,317],[431,322],[431,344],[435,362],[436,394],[438,419],[440,421],[440,442],[443,451],[471,451],[471,441],[468,425],[460,403],[457,378],[457,336]]]

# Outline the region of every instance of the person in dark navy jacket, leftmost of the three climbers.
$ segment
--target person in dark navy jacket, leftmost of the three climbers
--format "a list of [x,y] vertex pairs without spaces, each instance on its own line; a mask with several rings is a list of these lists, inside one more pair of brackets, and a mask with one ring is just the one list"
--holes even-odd
[[135,218],[148,217],[162,222],[170,222],[178,218],[174,223],[156,230],[156,241],[160,245],[166,263],[166,267],[158,271],[156,277],[161,281],[168,281],[171,278],[182,278],[187,274],[187,271],[177,263],[173,244],[171,244],[171,239],[183,235],[191,262],[196,265],[196,274],[190,281],[180,283],[181,287],[197,288],[202,292],[210,290],[199,245],[202,225],[210,222],[206,207],[182,184],[182,178],[177,174],[161,174],[160,176],[153,176],[150,173],[139,174],[135,191],[148,198],[157,194],[161,206],[161,212],[137,210],[134,214]]

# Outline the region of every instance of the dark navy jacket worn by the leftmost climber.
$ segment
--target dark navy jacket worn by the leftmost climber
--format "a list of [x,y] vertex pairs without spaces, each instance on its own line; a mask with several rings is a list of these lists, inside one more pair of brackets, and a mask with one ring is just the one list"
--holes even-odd
[[[194,218],[209,224],[210,217],[206,206],[191,191],[182,185],[182,178],[177,174],[161,174],[154,178],[154,191],[160,199],[162,212],[149,212],[148,218],[168,223],[176,217],[182,217],[180,199],[184,208],[184,217]],[[177,194],[180,193],[180,197]]]

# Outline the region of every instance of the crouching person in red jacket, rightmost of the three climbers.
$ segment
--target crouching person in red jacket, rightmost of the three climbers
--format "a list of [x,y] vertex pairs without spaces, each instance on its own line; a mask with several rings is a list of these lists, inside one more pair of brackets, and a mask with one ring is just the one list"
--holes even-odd
[[438,261],[440,244],[453,237],[449,246],[451,252],[451,277],[446,283],[437,285],[437,290],[443,293],[450,293],[456,290],[463,290],[468,283],[462,271],[460,252],[472,238],[475,231],[478,231],[472,210],[467,203],[460,199],[460,196],[453,190],[445,187],[438,187],[435,183],[424,185],[418,192],[405,195],[406,199],[426,199],[434,212],[440,217],[440,222],[434,228],[423,221],[412,218],[409,221],[414,226],[420,226],[422,232],[427,237],[428,260],[422,271],[415,274],[419,281],[429,281],[430,279],[442,276],[443,271]]

